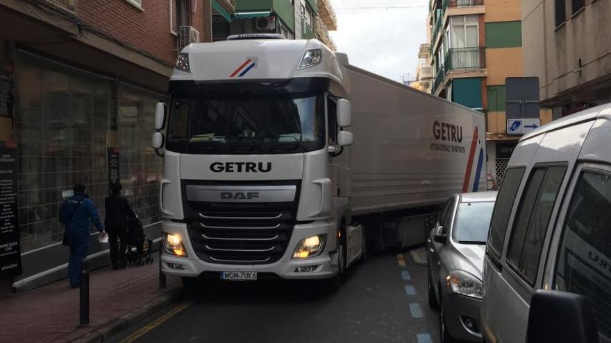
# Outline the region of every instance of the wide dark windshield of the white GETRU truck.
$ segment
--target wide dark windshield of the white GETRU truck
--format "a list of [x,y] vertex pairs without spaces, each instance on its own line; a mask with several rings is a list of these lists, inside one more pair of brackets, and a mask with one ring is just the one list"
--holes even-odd
[[325,145],[321,95],[175,98],[167,148],[199,154],[285,153]]

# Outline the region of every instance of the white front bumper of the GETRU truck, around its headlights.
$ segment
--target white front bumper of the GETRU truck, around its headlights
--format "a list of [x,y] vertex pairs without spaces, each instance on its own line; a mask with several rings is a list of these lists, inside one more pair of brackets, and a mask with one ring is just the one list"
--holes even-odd
[[[162,223],[162,231],[183,238],[187,257],[176,257],[163,252],[161,255],[161,271],[165,275],[184,277],[200,277],[204,274],[209,275],[211,272],[254,271],[260,274],[272,274],[281,279],[328,279],[337,274],[337,254],[330,253],[335,248],[330,247],[330,244],[327,243],[322,254],[318,256],[304,258],[303,260],[294,260],[291,257],[296,245],[301,240],[320,234],[329,235],[334,232],[334,229],[335,225],[330,221],[295,225],[286,252],[280,260],[267,265],[228,265],[202,261],[194,252],[187,232],[187,225],[182,222],[166,220]],[[178,265],[183,270],[177,269]],[[317,265],[317,267],[312,272],[295,271],[296,267],[310,265]]]

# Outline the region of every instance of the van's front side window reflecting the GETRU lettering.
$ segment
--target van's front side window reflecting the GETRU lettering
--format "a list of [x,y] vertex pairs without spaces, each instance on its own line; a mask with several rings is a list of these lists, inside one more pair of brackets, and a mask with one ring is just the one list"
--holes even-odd
[[580,175],[561,242],[554,288],[587,297],[601,342],[611,342],[611,175]]

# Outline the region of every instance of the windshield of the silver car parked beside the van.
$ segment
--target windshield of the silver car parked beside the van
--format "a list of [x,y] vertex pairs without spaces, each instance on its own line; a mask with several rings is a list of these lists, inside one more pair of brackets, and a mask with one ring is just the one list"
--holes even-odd
[[494,202],[463,202],[458,213],[452,236],[462,244],[486,244]]

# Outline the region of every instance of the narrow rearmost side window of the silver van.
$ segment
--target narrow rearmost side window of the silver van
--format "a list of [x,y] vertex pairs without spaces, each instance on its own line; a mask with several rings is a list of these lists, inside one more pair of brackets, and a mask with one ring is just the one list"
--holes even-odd
[[520,182],[524,176],[524,170],[526,170],[524,167],[508,169],[503,178],[499,194],[496,195],[496,203],[494,204],[492,220],[490,221],[487,251],[497,259],[501,258],[507,222],[509,221]]

